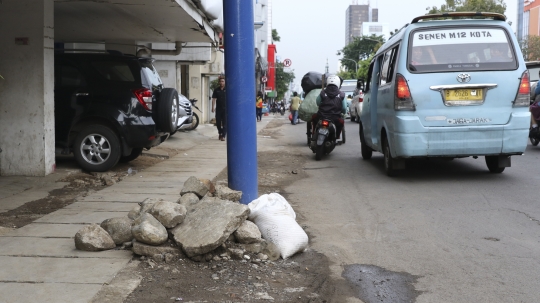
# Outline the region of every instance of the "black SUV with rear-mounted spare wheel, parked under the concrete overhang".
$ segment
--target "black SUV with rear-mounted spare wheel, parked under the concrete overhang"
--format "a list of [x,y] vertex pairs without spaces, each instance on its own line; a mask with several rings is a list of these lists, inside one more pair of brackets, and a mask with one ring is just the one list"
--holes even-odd
[[178,122],[178,93],[151,58],[120,52],[55,53],[55,139],[88,171],[107,171],[165,141]]

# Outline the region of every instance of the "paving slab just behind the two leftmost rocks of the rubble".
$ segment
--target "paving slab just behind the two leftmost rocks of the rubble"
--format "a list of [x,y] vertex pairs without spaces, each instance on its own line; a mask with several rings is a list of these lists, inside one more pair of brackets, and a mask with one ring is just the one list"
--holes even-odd
[[37,219],[36,223],[100,224],[103,220],[121,217],[127,212],[98,211],[95,209],[60,209]]

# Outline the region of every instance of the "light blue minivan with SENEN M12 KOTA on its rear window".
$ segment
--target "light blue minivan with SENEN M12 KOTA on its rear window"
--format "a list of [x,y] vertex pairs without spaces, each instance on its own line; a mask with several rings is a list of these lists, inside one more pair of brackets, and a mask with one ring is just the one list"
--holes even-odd
[[[441,20],[442,19],[442,20]],[[492,173],[527,146],[529,74],[503,15],[420,16],[376,53],[360,116],[362,157],[386,173],[420,157],[485,156]]]

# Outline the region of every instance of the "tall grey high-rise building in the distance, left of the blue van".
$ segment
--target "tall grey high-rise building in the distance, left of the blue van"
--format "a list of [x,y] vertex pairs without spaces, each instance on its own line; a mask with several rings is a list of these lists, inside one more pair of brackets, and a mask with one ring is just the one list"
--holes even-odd
[[349,44],[353,37],[362,36],[363,22],[378,22],[379,9],[366,5],[349,5],[345,13],[345,45]]

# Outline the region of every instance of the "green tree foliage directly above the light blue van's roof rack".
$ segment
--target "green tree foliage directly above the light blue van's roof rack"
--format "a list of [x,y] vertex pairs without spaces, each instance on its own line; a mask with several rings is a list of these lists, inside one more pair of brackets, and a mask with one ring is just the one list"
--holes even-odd
[[428,7],[429,14],[443,12],[491,12],[504,14],[506,3],[503,0],[445,0],[441,7]]

